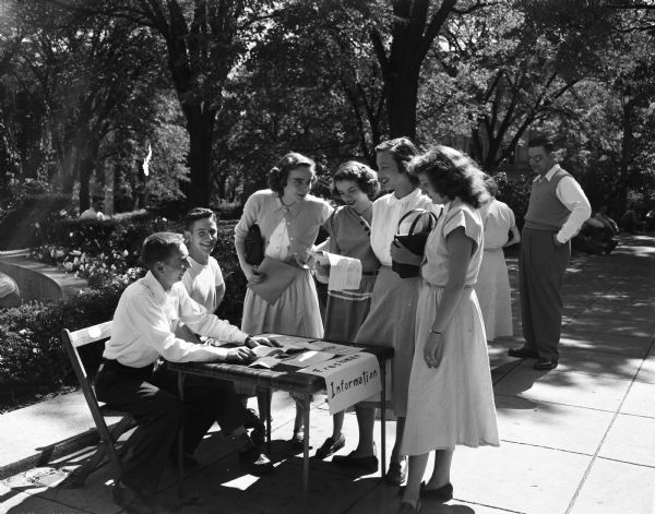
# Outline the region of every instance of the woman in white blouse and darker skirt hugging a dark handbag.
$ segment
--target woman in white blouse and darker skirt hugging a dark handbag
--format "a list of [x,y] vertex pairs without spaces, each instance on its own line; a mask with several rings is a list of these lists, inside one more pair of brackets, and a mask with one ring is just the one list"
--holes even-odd
[[[373,202],[371,248],[381,263],[366,321],[357,333],[356,343],[389,346],[394,349],[391,376],[391,407],[396,416],[396,439],[386,473],[390,485],[400,486],[407,475],[406,458],[400,453],[407,409],[407,385],[414,355],[414,319],[420,277],[401,278],[392,271],[392,243],[401,218],[410,211],[432,210],[431,201],[418,188],[418,178],[409,175],[408,164],[417,150],[407,138],[398,138],[376,147],[380,183],[391,191]],[[426,216],[427,217],[427,216]],[[408,222],[410,224],[410,222]],[[400,227],[401,231],[406,231]],[[420,259],[420,258],[419,258]],[[355,407],[359,442],[349,455],[336,455],[335,464],[365,473],[378,469],[373,443],[378,402],[364,402]],[[386,408],[386,406],[382,406]]]

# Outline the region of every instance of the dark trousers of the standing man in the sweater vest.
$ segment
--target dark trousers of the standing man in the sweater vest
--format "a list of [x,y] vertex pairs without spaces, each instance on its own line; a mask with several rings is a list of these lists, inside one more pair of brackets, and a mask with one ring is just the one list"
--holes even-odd
[[547,230],[524,228],[521,234],[519,284],[523,337],[539,357],[559,359],[562,283],[571,243],[556,246],[555,232]]

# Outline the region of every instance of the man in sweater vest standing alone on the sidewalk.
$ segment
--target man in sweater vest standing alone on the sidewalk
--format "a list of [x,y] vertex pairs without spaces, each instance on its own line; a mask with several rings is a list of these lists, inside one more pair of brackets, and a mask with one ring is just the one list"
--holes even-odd
[[520,291],[525,344],[509,355],[536,358],[536,370],[551,370],[559,361],[562,324],[562,282],[571,239],[591,216],[592,207],[580,184],[555,160],[547,136],[529,141],[533,181],[521,237]]

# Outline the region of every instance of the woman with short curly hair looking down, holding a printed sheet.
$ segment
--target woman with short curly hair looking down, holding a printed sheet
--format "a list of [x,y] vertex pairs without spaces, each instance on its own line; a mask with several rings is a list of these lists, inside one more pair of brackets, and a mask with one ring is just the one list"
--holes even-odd
[[[345,205],[332,213],[323,228],[330,235],[330,253],[358,259],[361,262],[359,289],[329,290],[325,308],[325,339],[352,343],[371,306],[371,292],[380,261],[370,242],[373,200],[378,196],[378,174],[356,160],[342,164],[332,177],[332,193]],[[317,264],[317,275],[329,277],[329,266]],[[326,458],[346,444],[342,433],[344,413],[333,417],[332,435],[317,450],[318,458]]]

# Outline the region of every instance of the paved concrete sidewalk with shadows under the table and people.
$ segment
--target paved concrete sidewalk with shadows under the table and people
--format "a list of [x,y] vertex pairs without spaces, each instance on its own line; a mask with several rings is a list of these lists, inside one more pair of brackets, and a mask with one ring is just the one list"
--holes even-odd
[[[515,259],[510,270],[515,286]],[[513,295],[520,336],[515,288]],[[626,237],[609,256],[574,256],[564,301],[557,370],[538,372],[532,369],[533,360],[507,357],[515,340],[490,343],[501,446],[458,447],[452,476],[455,500],[444,505],[425,501],[424,513],[655,514],[655,238]],[[39,423],[33,416],[22,430],[15,425],[9,429],[4,416],[2,445],[29,439],[31,428]],[[201,467],[188,476],[182,504],[174,470],[166,470],[155,499],[162,512],[301,512],[302,459],[285,442],[293,416],[288,397],[276,394],[275,474],[245,474],[224,438],[211,434],[199,449]],[[311,419],[315,447],[332,428],[324,404],[314,403]],[[47,418],[41,422],[49,426]],[[354,414],[346,416],[344,429],[347,443],[340,453],[356,444]],[[390,422],[388,454],[393,429]],[[87,450],[68,454],[2,480],[0,512],[120,512],[105,485],[107,466],[92,474],[83,488],[57,487],[87,455]],[[398,505],[397,489],[377,476],[354,477],[330,462],[312,461],[309,512],[394,514]]]

